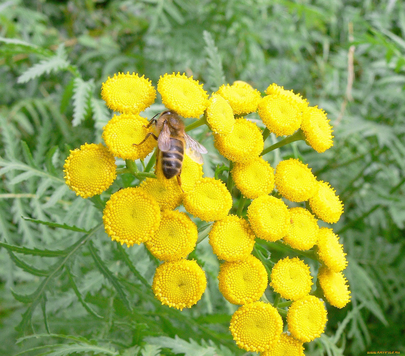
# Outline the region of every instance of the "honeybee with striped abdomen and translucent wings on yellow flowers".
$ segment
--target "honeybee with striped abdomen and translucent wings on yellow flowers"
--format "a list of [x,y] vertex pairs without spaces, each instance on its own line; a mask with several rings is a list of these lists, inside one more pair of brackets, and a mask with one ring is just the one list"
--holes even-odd
[[[158,116],[156,119],[156,116]],[[165,110],[156,114],[145,126],[156,126],[156,136],[153,132],[148,132],[138,145],[145,142],[149,136],[158,141],[158,151],[156,153],[156,168],[162,167],[163,175],[166,179],[177,177],[177,182],[181,187],[181,168],[183,166],[184,153],[192,160],[203,164],[201,153],[207,153],[207,149],[185,133],[183,118],[172,110]],[[133,145],[136,145],[135,143]],[[156,173],[156,170],[155,170]]]

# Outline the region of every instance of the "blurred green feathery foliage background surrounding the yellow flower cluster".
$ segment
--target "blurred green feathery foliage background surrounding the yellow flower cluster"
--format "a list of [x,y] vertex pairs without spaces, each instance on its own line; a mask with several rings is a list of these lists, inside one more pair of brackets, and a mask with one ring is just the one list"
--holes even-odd
[[[275,82],[325,109],[335,145],[318,154],[298,143],[266,158],[300,157],[345,204],[333,228],[348,255],[352,303],[328,306],[326,333],[305,353],[405,353],[404,37],[400,0],[1,2],[0,241],[45,251],[83,235],[22,217],[100,223],[100,211],[68,190],[62,166],[68,149],[100,142],[109,75],[135,71],[156,85],[165,72],[186,72],[209,92],[240,79],[263,93]],[[160,112],[159,100],[147,115]],[[212,176],[226,161],[204,128],[193,134],[210,150]],[[122,175],[111,189],[132,180]],[[68,261],[0,249],[0,354],[249,354],[228,332],[235,306],[217,290],[206,240],[195,257],[208,288],[183,312],[154,300],[147,284],[156,265],[143,246],[125,249],[129,263],[103,233]],[[41,336],[16,344],[32,334]]]

